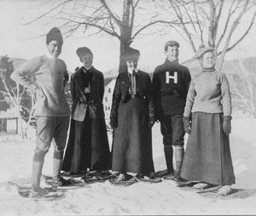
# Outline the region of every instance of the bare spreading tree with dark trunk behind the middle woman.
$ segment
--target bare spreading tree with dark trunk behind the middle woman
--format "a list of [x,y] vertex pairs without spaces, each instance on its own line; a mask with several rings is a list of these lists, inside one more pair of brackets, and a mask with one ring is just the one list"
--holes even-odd
[[67,30],[66,34],[72,34],[80,29],[86,33],[87,30],[94,29],[95,31],[87,36],[105,33],[117,38],[120,43],[119,71],[122,71],[125,65],[123,60],[125,50],[143,32],[160,34],[170,26],[180,25],[180,21],[175,16],[166,17],[162,13],[161,7],[167,3],[166,0],[159,0],[160,6],[156,2],[156,0],[123,0],[121,9],[119,0],[62,0],[53,9],[30,23],[53,14],[52,19],[62,21],[60,27]]

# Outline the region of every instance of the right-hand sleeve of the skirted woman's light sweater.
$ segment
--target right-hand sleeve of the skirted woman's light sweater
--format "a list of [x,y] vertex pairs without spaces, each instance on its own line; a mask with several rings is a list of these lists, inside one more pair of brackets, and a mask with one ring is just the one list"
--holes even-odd
[[224,116],[231,116],[232,105],[230,96],[230,84],[224,73],[221,73],[220,83]]

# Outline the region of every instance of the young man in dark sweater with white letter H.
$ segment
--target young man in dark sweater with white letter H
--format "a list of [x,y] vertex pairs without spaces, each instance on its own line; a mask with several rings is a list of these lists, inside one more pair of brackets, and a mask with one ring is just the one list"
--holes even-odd
[[[178,63],[179,43],[168,41],[164,49],[166,61],[155,68],[153,92],[156,120],[160,121],[163,136],[166,170],[156,172],[156,177],[179,176],[184,154],[183,111],[191,81],[189,69]],[[176,170],[173,168],[173,148]]]

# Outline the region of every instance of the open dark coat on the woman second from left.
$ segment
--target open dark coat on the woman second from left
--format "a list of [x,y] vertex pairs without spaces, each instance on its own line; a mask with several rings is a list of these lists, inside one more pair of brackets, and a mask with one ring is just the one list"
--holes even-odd
[[71,77],[70,90],[73,98],[71,114],[73,116],[75,105],[77,105],[82,100],[85,104],[85,109],[89,107],[91,119],[102,119],[105,117],[102,104],[104,94],[103,74],[101,71],[96,70],[93,66],[91,67],[90,70],[92,71],[93,77],[90,88],[90,99],[87,100],[86,98],[82,97],[82,94],[84,94],[84,81],[82,78],[82,73],[84,73],[83,69],[84,66],[79,68],[78,71],[74,72]]

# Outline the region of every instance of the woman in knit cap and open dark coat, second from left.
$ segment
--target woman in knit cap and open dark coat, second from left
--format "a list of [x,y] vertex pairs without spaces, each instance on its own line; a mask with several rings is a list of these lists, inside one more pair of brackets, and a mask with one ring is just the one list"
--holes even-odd
[[83,66],[71,77],[72,119],[61,170],[64,175],[83,174],[87,169],[101,175],[111,162],[102,104],[104,77],[92,65],[90,48],[78,48],[76,53]]

